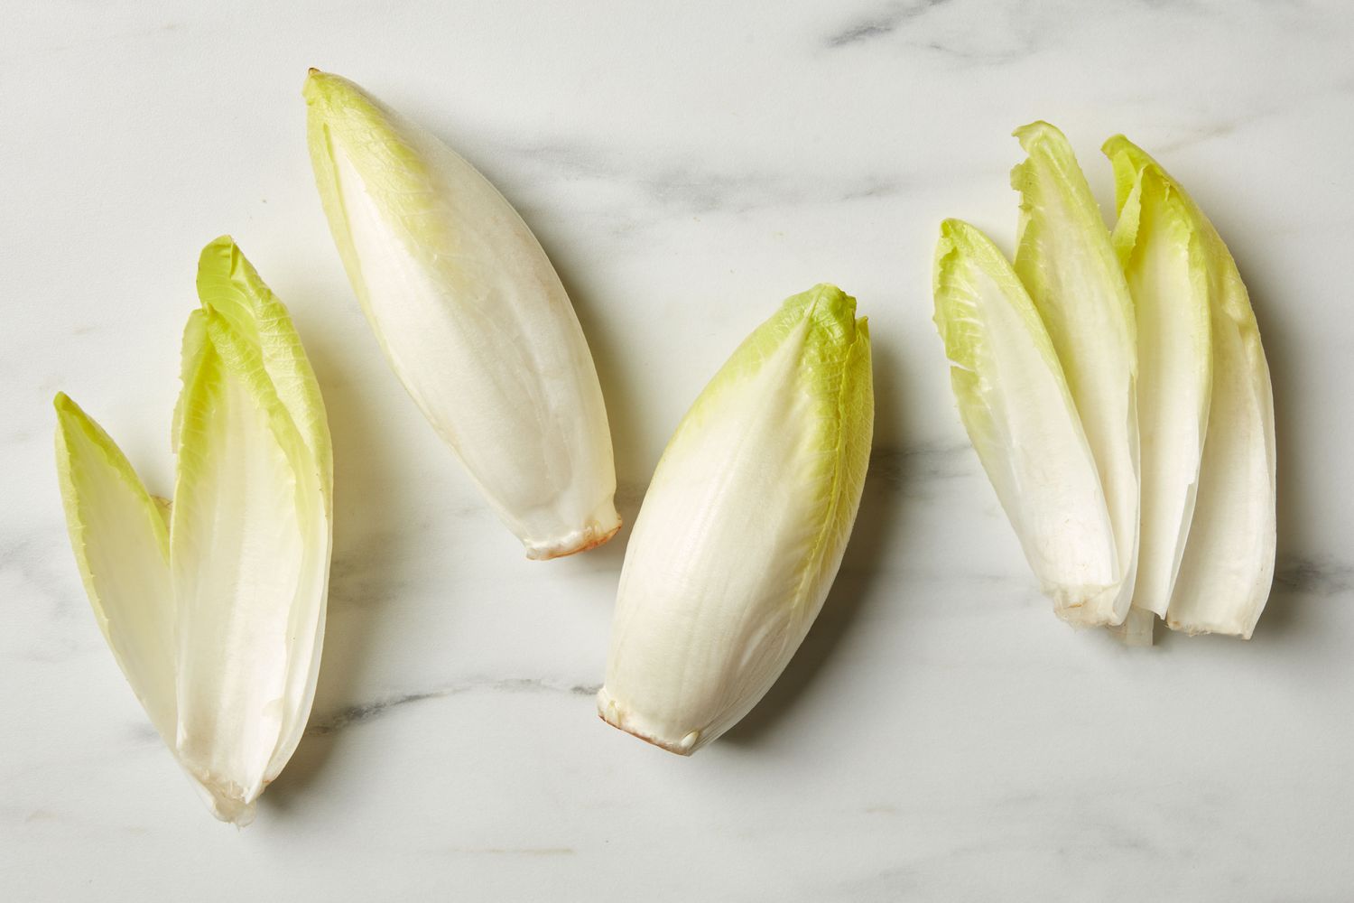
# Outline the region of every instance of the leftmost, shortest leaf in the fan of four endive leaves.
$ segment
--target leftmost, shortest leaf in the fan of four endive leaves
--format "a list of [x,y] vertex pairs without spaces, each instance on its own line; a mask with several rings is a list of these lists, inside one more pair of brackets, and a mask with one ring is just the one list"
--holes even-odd
[[1060,617],[1109,624],[1114,532],[1057,355],[1010,263],[978,229],[941,225],[936,326],[964,428]]

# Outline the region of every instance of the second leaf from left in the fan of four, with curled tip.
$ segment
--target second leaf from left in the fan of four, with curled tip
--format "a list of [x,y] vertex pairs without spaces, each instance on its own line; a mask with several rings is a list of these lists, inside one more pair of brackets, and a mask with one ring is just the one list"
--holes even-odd
[[1028,158],[1016,272],[1062,363],[1114,531],[1113,600],[1068,612],[1086,624],[1128,615],[1137,563],[1139,481],[1133,307],[1109,230],[1063,134],[1045,122],[1016,130]]

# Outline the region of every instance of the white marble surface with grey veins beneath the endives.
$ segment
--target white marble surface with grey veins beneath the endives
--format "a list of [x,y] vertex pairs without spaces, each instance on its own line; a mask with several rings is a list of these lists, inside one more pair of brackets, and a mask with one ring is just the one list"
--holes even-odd
[[[0,30],[0,898],[1347,900],[1354,895],[1349,164],[1354,7],[850,0],[89,4]],[[871,317],[876,451],[837,586],[692,759],[600,723],[626,535],[521,556],[390,375],[315,196],[306,66],[459,148],[592,343],[634,514],[676,420],[777,302]],[[937,222],[1007,249],[1011,127],[1109,207],[1124,131],[1212,214],[1278,410],[1255,639],[1057,623],[930,325]],[[89,613],[51,466],[70,393],[171,472],[199,248],[288,302],[334,433],[311,727],[244,831],[195,799]]]

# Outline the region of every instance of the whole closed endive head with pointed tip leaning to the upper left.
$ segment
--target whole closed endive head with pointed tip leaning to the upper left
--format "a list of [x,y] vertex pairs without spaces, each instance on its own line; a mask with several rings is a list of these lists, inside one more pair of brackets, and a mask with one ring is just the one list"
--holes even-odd
[[597,372],[559,276],[468,162],[311,70],[310,158],[348,279],[390,366],[528,558],[620,527]]

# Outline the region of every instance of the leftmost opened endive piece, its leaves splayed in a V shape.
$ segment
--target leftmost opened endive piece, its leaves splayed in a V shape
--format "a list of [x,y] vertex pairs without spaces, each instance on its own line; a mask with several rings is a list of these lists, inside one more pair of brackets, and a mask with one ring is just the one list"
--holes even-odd
[[245,824],[301,741],[329,581],[333,467],[286,307],[230,238],[184,329],[173,501],[57,395],[57,471],[95,617],[217,818]]

